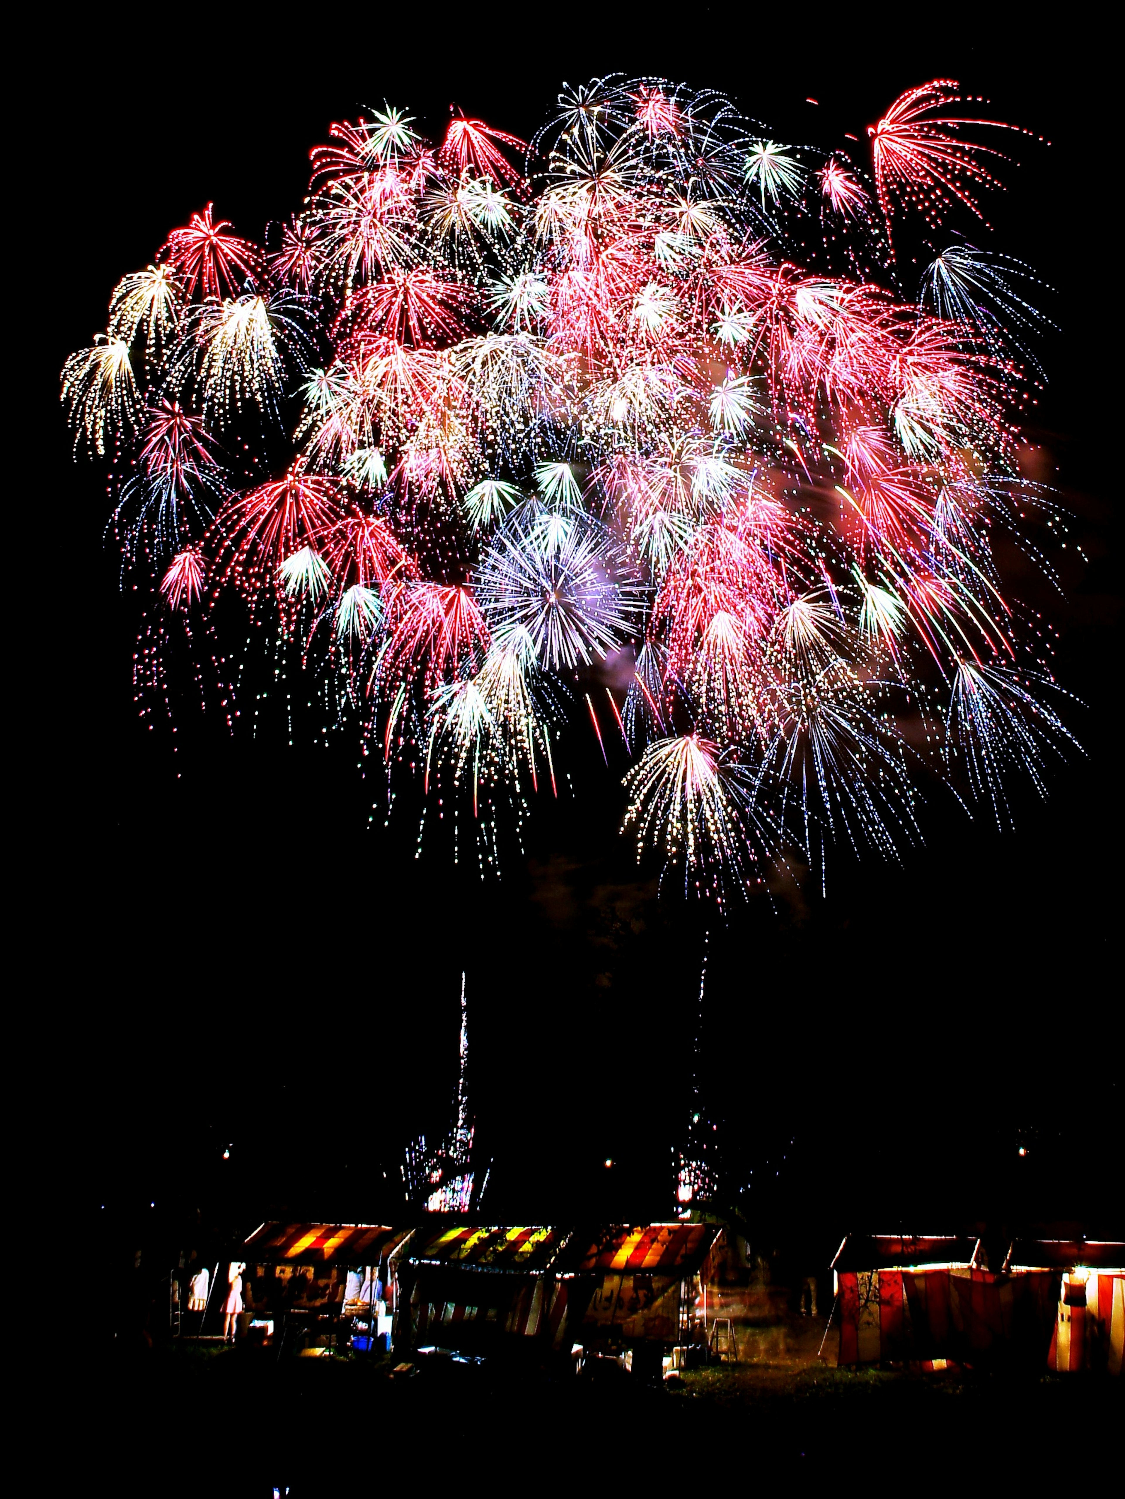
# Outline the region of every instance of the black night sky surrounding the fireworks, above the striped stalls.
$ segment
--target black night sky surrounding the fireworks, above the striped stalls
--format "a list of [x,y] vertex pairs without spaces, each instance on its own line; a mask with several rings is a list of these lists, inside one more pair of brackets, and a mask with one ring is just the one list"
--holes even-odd
[[[1006,22],[975,34],[964,10],[948,12],[956,30],[932,12],[916,34],[870,10],[765,24],[694,6],[675,30],[648,7],[614,13],[568,7],[532,30],[528,12],[472,25],[428,12],[396,33],[362,19],[370,7],[298,30],[180,12],[183,28],[153,39],[111,12],[26,54],[42,102],[16,159],[46,229],[20,238],[18,274],[45,279],[30,480],[52,531],[34,559],[66,595],[42,636],[26,616],[12,637],[33,655],[36,702],[28,1003],[60,1018],[46,1132],[64,1130],[84,1207],[220,1195],[254,1222],[282,1205],[375,1216],[369,1162],[398,1171],[405,1139],[444,1123],[464,968],[495,1211],[666,1213],[710,928],[704,1085],[732,1181],[753,1172],[752,1219],[826,1238],[1005,1214],[1104,1229],[1120,1117],[1106,974],[1122,547],[1096,42]],[[526,857],[482,881],[440,847],[416,860],[408,820],[368,829],[354,741],[290,750],[183,718],[176,739],[148,732],[130,685],[136,609],[102,544],[104,478],[70,463],[52,411],[57,370],[104,327],[116,280],[212,199],[261,237],[300,204],[330,120],[386,97],[438,133],[456,100],[528,136],[564,79],[612,69],[729,91],[778,138],[818,144],[862,138],[903,88],[951,76],[1053,141],[1020,144],[990,243],[1058,288],[1038,436],[1090,558],[1048,603],[1086,754],[1056,767],[1048,802],[1017,791],[1014,832],[934,790],[926,842],[900,866],[842,859],[826,899],[778,884],[729,926],[656,898],[656,871],[615,830],[624,763],[608,775],[592,747],[582,794],[543,808]],[[1017,1136],[1034,1141],[1026,1159]]]

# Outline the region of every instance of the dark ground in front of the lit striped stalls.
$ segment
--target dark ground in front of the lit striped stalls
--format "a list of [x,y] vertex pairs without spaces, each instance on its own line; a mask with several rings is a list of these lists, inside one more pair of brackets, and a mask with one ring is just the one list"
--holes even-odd
[[[645,1387],[603,1366],[594,1379],[498,1361],[398,1355],[284,1358],[268,1349],[190,1345],[105,1358],[88,1351],[63,1378],[78,1421],[60,1453],[116,1493],[291,1499],[394,1481],[576,1483],[750,1477],[873,1477],[922,1486],[1095,1481],[1120,1430],[1118,1381],[1040,1372],[837,1369],[824,1321],[782,1315],[738,1327],[738,1363],[688,1369]],[[70,1444],[70,1436],[76,1444]],[[100,1483],[99,1483],[100,1487]],[[1095,1483],[1096,1487],[1096,1483]]]

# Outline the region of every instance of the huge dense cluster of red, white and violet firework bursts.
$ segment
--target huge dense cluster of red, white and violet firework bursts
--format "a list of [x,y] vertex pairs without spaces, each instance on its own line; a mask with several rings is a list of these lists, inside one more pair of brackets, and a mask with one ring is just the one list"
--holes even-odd
[[915,836],[910,715],[1006,818],[1070,739],[992,547],[1050,576],[1016,465],[1046,319],[968,243],[910,301],[891,241],[998,186],[957,99],[897,99],[870,171],[654,78],[567,87],[530,147],[384,105],[268,247],[194,214],[63,369],[152,574],[141,678],[166,697],[160,619],[213,651],[242,598],[390,776],[471,787],[486,857],[582,732],[632,763],[639,854],[723,901],[786,847]]

